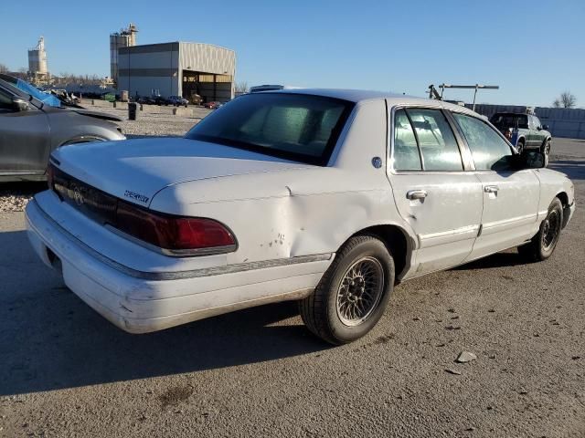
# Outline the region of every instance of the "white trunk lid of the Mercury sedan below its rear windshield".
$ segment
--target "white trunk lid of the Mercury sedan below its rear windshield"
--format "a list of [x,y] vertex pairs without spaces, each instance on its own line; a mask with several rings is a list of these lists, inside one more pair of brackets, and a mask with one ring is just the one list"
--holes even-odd
[[70,145],[53,152],[58,170],[125,201],[148,206],[169,185],[308,164],[182,138],[134,139]]

